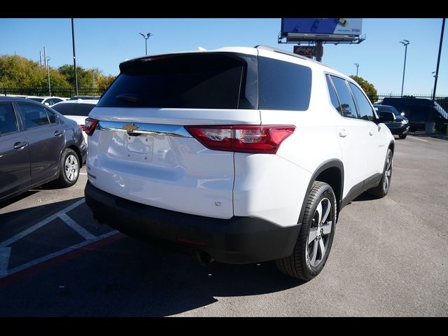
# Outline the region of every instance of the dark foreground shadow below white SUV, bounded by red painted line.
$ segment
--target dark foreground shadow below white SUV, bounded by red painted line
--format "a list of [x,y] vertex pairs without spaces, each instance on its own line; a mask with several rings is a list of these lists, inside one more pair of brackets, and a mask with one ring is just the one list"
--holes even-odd
[[124,235],[41,266],[0,286],[0,316],[168,316],[205,308],[219,297],[262,295],[303,283],[279,272],[274,262],[202,266],[158,241]]

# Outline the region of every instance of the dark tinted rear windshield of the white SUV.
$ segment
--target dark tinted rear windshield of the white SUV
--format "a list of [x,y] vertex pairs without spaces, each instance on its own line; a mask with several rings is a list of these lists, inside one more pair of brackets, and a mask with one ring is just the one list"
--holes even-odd
[[[99,107],[256,109],[256,57],[233,53],[162,55],[120,64]],[[255,86],[256,88],[256,86]],[[255,92],[254,92],[255,91]]]

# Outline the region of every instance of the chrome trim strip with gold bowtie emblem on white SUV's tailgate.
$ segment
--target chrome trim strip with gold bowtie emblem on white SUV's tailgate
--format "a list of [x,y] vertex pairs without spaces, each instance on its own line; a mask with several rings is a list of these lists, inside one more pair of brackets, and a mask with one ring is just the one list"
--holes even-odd
[[99,129],[115,132],[132,132],[138,134],[160,134],[171,137],[193,138],[182,125],[163,125],[147,123],[123,123],[123,121],[100,121]]

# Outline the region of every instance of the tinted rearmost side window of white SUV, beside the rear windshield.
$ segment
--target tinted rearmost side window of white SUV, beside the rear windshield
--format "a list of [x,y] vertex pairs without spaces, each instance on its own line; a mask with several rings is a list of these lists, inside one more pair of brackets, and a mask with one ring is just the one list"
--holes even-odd
[[311,95],[311,69],[258,57],[260,109],[305,111]]

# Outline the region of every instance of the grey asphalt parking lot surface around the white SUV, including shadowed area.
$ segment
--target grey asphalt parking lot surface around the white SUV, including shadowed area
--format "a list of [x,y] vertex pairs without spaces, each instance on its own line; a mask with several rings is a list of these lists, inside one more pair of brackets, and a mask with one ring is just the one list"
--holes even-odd
[[307,283],[98,226],[86,181],[0,204],[0,316],[448,316],[447,140],[396,140],[388,196],[344,208]]

